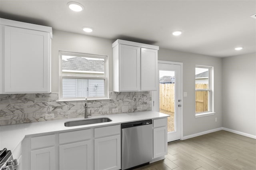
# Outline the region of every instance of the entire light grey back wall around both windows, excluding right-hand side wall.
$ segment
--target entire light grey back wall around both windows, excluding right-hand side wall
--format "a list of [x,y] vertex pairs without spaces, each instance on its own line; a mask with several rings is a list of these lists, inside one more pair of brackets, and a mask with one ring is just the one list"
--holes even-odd
[[[75,34],[53,30],[52,39],[52,91],[59,91],[59,50],[74,51],[82,53],[108,55],[109,63],[109,91],[113,90],[113,64],[112,64],[112,42],[104,38],[97,38],[83,34]],[[222,127],[221,113],[221,81],[222,67],[221,58],[184,53],[180,51],[162,49],[158,51],[158,59],[166,61],[182,62],[183,65],[183,89],[188,93],[183,102],[183,134],[184,136],[198,132]],[[215,92],[214,92],[214,111],[213,116],[195,118],[195,65],[207,65],[214,67]],[[215,122],[215,117],[218,121]]]

